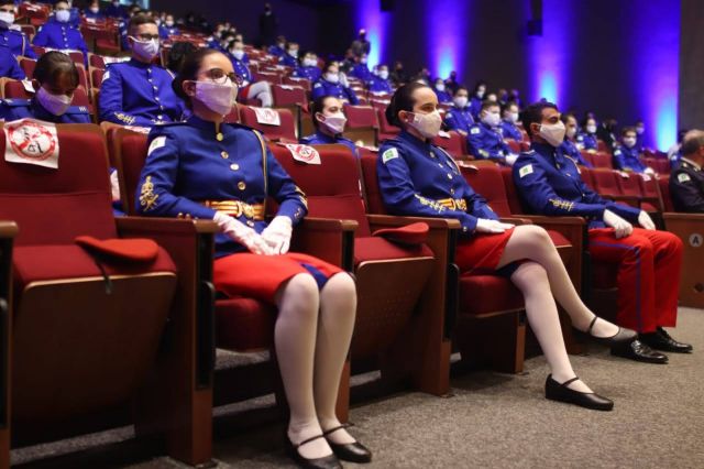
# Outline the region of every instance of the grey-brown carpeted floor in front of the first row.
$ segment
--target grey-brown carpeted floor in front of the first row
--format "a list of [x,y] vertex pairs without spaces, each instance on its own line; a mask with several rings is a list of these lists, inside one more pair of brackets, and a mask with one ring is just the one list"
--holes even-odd
[[[670,353],[667,366],[617,359],[598,346],[573,357],[580,377],[616,401],[610,413],[544,400],[538,357],[521,375],[454,377],[449,399],[406,392],[355,405],[352,432],[374,451],[369,468],[702,468],[704,310],[681,308],[672,334],[695,352]],[[222,468],[293,467],[282,435],[280,423],[237,432],[216,441],[215,457]],[[157,458],[121,467],[185,466]]]

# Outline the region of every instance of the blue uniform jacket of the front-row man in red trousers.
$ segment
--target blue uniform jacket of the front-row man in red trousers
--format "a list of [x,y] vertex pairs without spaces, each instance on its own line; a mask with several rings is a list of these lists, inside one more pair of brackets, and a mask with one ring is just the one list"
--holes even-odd
[[604,209],[637,222],[640,210],[602,198],[580,177],[574,160],[561,148],[532,143],[521,153],[513,168],[514,183],[524,206],[530,214],[548,216],[581,216],[590,228],[604,228]]

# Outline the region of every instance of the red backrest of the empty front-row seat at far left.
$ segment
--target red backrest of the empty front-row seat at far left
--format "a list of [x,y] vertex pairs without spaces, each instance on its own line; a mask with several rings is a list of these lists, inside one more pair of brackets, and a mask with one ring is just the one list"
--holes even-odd
[[[0,219],[16,221],[16,242],[23,246],[70,244],[80,234],[116,237],[100,128],[58,124],[56,131],[58,168],[0,159]],[[47,143],[42,137],[37,141]],[[4,151],[6,133],[0,132],[0,154]]]

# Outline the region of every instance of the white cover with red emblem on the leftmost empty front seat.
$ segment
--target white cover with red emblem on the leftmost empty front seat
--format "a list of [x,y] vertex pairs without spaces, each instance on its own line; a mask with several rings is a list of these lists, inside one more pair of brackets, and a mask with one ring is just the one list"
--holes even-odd
[[58,168],[56,126],[35,119],[4,123],[4,160]]

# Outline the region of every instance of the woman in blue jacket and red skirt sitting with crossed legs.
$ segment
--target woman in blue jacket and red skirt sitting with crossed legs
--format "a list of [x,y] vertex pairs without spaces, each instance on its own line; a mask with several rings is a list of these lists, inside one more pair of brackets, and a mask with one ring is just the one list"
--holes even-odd
[[565,308],[574,327],[601,341],[631,340],[634,332],[597,318],[580,299],[548,233],[535,225],[501,222],[462,177],[454,160],[432,144],[442,122],[431,88],[419,83],[398,88],[386,109],[386,119],[402,129],[397,138],[382,144],[376,163],[386,210],[460,221],[455,251],[460,271],[508,277],[526,298],[528,321],[551,369],[546,397],[610,411],[612,401],[592,393],[575,377],[554,299]]

